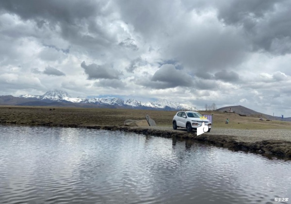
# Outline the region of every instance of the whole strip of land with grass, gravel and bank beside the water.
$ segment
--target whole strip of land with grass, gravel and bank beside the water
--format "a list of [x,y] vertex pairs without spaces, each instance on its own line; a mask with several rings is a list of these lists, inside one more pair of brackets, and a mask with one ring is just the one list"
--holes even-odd
[[[197,136],[194,131],[188,133],[182,128],[173,130],[174,114],[176,111],[0,106],[0,124],[118,130],[191,139],[229,149],[291,158],[290,123],[276,121],[272,125],[258,122],[256,118],[246,120],[246,117],[232,115],[232,122],[226,126],[224,118],[228,115],[214,112],[214,127],[210,132]],[[146,115],[155,120],[158,126],[124,126],[124,121],[144,120]]]

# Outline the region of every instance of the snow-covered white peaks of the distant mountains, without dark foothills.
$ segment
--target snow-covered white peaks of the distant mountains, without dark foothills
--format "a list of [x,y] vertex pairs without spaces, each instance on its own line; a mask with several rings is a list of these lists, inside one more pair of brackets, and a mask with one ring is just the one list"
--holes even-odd
[[187,104],[181,104],[177,102],[168,101],[166,99],[161,99],[158,101],[140,102],[135,99],[128,99],[126,101],[121,98],[72,98],[68,93],[60,90],[48,91],[43,95],[19,95],[17,97],[38,99],[44,101],[57,101],[57,102],[72,102],[81,104],[97,104],[97,105],[112,105],[118,107],[128,107],[128,108],[150,108],[150,109],[166,109],[166,110],[195,110]]

